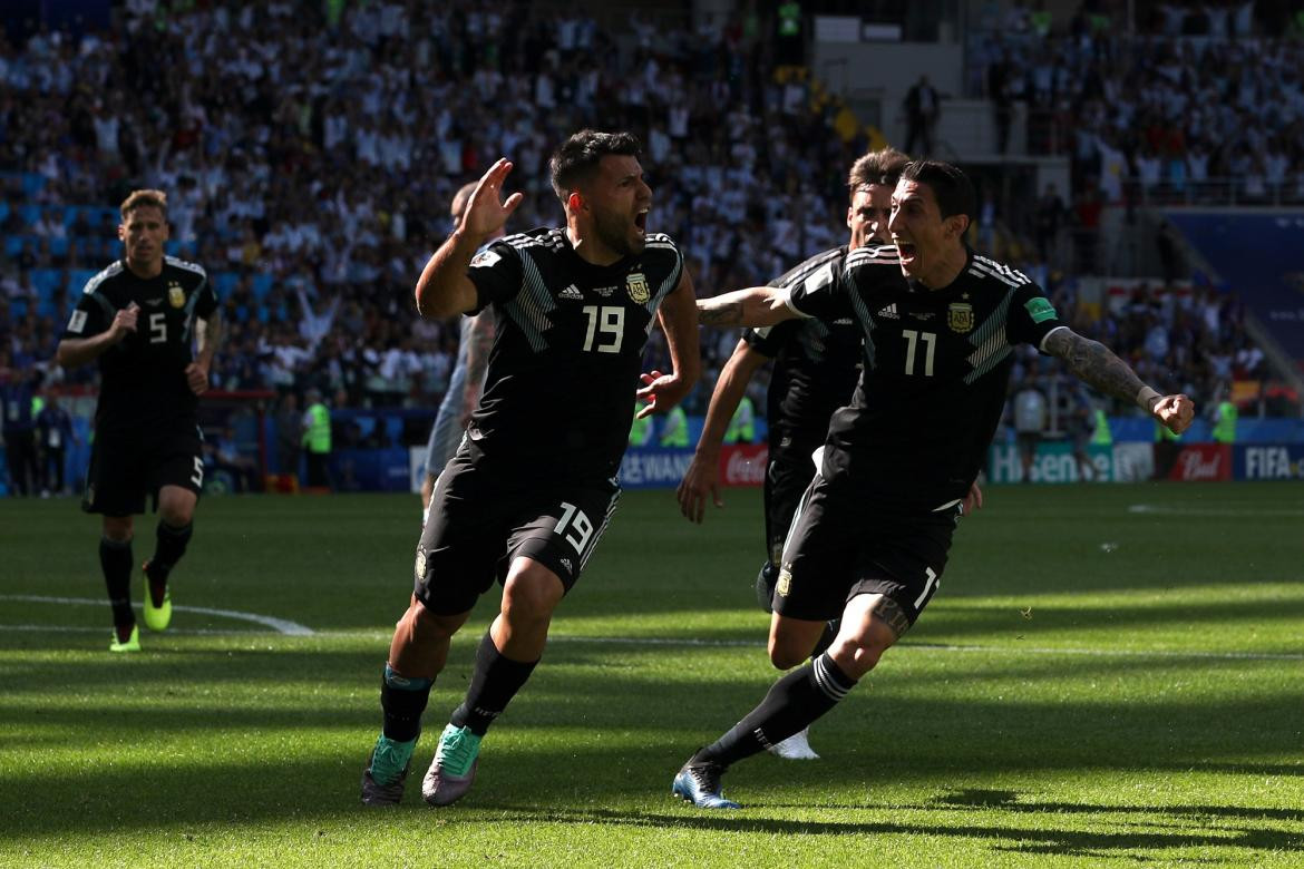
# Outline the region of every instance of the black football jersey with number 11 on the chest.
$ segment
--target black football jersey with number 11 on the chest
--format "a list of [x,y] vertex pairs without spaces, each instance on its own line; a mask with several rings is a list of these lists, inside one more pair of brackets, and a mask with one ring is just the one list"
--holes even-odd
[[1063,326],[1022,272],[969,251],[949,287],[906,280],[895,246],[846,255],[793,287],[793,310],[852,317],[867,363],[837,410],[825,477],[848,476],[906,506],[936,509],[966,494],[1005,404],[1013,348],[1045,345]]

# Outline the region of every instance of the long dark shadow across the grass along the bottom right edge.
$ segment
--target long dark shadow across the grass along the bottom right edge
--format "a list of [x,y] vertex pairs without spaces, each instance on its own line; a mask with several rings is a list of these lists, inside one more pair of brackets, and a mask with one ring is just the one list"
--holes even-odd
[[[992,803],[981,803],[979,795],[994,799]],[[1055,830],[1033,829],[1021,826],[1000,826],[990,821],[979,821],[974,825],[943,823],[906,823],[892,821],[802,821],[781,818],[758,818],[755,814],[721,810],[698,810],[685,806],[686,814],[657,813],[657,812],[622,812],[613,809],[531,809],[527,806],[501,806],[506,812],[520,813],[522,819],[545,821],[553,823],[614,823],[619,826],[635,826],[645,829],[694,829],[715,833],[760,833],[780,835],[905,835],[905,836],[953,836],[960,839],[992,839],[991,846],[998,851],[1016,851],[1030,853],[1054,853],[1061,856],[1111,856],[1118,857],[1118,852],[1133,851],[1164,851],[1189,848],[1248,848],[1257,852],[1304,852],[1304,836],[1299,833],[1258,827],[1214,827],[1201,823],[1205,816],[1217,812],[1226,817],[1245,821],[1266,819],[1264,812],[1258,809],[1237,809],[1235,806],[1112,806],[1091,804],[1065,804],[1065,803],[1020,803],[1017,795],[1007,792],[970,791],[958,795],[961,800],[953,803],[949,797],[939,797],[925,805],[902,806],[911,810],[943,810],[955,813],[957,809],[973,808],[975,812],[1015,810],[1035,813],[1042,823],[1048,822],[1056,812],[1072,813],[1131,813],[1145,814],[1151,818],[1167,818],[1184,821],[1184,826],[1176,826],[1171,831],[1107,831],[1107,830]],[[781,809],[786,814],[790,809],[811,810],[812,806],[776,805],[765,803],[754,806],[755,810]],[[859,808],[880,809],[887,806],[841,806],[848,810]],[[746,812],[746,809],[745,809]],[[1283,818],[1277,818],[1275,813],[1267,810],[1271,819],[1300,819],[1299,813],[1290,813]],[[986,822],[985,822],[986,821]],[[1163,823],[1161,819],[1148,822],[1148,825]],[[1003,844],[1003,843],[1017,843]],[[1222,862],[1219,860],[1219,862]]]

